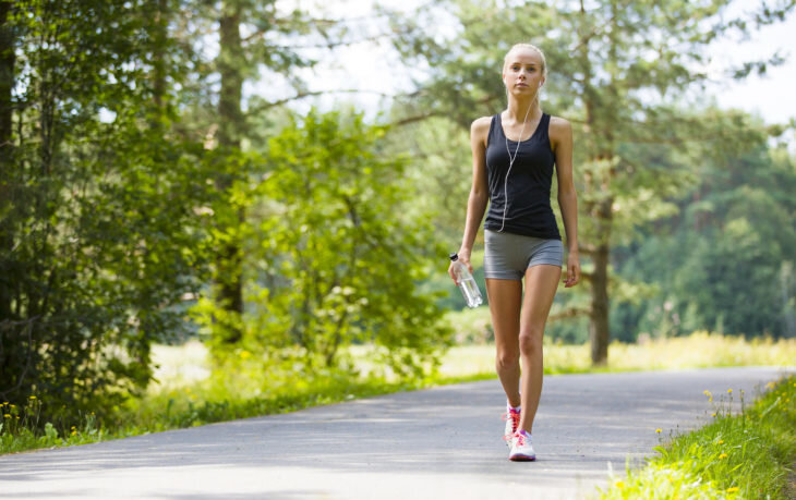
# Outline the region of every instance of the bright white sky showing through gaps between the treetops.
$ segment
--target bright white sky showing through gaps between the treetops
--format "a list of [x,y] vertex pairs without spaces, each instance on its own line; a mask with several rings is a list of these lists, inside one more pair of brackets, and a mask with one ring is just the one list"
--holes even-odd
[[[318,0],[293,0],[311,5]],[[429,0],[379,0],[390,8],[411,10]],[[367,17],[373,15],[374,0],[325,0],[325,10],[335,17]],[[739,0],[734,3],[735,10],[753,10],[755,0]],[[363,20],[363,33],[373,35],[378,32],[373,21]],[[714,68],[725,66],[728,62],[755,59],[760,53],[773,53],[776,50],[787,57],[787,61],[769,70],[763,77],[750,76],[741,82],[729,81],[721,86],[709,88],[717,103],[723,108],[740,108],[757,113],[771,123],[786,123],[796,119],[796,98],[789,88],[796,82],[796,13],[792,13],[784,23],[763,27],[760,32],[743,42],[723,42],[714,47],[711,54],[715,59]],[[554,68],[551,71],[555,71]],[[348,101],[375,112],[384,107],[383,94],[391,95],[408,90],[411,83],[406,69],[391,53],[386,41],[365,41],[338,48],[335,59],[327,60],[314,70],[305,73],[310,88],[313,90],[339,90],[358,88],[361,93],[340,93],[322,97],[313,102],[304,102],[299,107],[315,103],[322,108]],[[251,88],[252,93],[265,92],[260,85]],[[267,95],[267,94],[266,94]]]

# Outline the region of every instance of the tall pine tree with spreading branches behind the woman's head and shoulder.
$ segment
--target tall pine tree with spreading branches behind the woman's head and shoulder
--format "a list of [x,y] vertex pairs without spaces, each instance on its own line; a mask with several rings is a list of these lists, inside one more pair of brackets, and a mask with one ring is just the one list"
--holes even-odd
[[[429,77],[413,108],[417,114],[403,120],[446,115],[468,126],[477,114],[496,112],[504,102],[499,65],[510,45],[532,40],[544,49],[551,69],[544,108],[575,125],[591,357],[604,364],[611,338],[612,245],[670,212],[665,198],[687,180],[684,145],[743,144],[684,111],[690,106],[685,101],[688,93],[708,82],[702,70],[705,47],[784,19],[793,2],[763,5],[749,19],[727,19],[728,1],[505,3],[449,0],[446,5],[458,23],[450,44],[429,35],[430,20],[420,13],[413,16],[410,24],[418,29],[398,47],[409,64],[427,68]],[[781,61],[774,54],[744,62],[731,73],[744,77]],[[639,154],[641,149],[646,153]],[[661,175],[654,164],[642,161],[655,155],[677,159],[678,172]]]

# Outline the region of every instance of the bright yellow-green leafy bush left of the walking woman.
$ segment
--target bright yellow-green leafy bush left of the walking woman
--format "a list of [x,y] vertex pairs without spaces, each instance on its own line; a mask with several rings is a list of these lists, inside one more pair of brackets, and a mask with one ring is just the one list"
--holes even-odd
[[[267,171],[241,190],[251,207],[244,338],[230,346],[210,336],[217,357],[297,347],[285,363],[331,367],[341,347],[369,342],[394,371],[421,376],[447,343],[434,295],[417,290],[426,257],[445,253],[424,219],[405,214],[406,160],[383,154],[384,134],[361,115],[311,112],[269,141]],[[226,320],[209,301],[197,312],[208,331]]]

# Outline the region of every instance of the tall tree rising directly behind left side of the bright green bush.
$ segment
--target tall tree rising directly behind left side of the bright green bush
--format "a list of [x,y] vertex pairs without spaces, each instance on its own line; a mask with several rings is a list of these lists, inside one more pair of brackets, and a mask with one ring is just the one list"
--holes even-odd
[[[185,1],[188,12],[198,12],[202,29],[218,34],[218,54],[212,63],[200,65],[195,75],[209,88],[202,90],[210,100],[200,102],[204,115],[193,126],[208,132],[216,173],[218,199],[213,206],[214,228],[218,253],[214,265],[214,295],[224,314],[216,320],[216,334],[234,344],[243,336],[244,258],[240,227],[246,214],[239,199],[232,196],[236,183],[248,182],[252,163],[246,158],[245,142],[251,142],[250,122],[263,108],[268,97],[251,99],[244,111],[243,86],[246,81],[273,78],[287,81],[301,94],[305,86],[292,73],[311,66],[313,59],[303,56],[300,48],[307,40],[324,40],[343,32],[339,23],[310,16],[298,9],[286,10],[276,0],[222,0],[220,2]],[[200,41],[201,44],[204,41]],[[202,52],[200,47],[196,52]],[[214,88],[216,83],[218,90]],[[213,101],[217,99],[217,105]],[[265,102],[265,106],[264,106]],[[253,105],[254,106],[251,106]],[[215,112],[207,112],[215,108]],[[197,118],[194,115],[194,119]]]

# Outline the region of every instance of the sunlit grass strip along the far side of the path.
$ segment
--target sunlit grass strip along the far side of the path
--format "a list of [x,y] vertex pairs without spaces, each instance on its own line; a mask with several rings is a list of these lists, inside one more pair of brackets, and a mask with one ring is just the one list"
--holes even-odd
[[[478,310],[478,309],[477,309]],[[483,312],[481,312],[483,313]],[[468,316],[467,320],[477,319]],[[473,324],[477,328],[486,328]],[[695,354],[697,353],[697,354]],[[158,383],[140,399],[119,407],[113,422],[99,425],[93,414],[75,422],[39,424],[40,404],[28,400],[25,407],[3,405],[0,454],[82,444],[160,430],[198,426],[250,416],[269,415],[357,398],[415,390],[461,381],[495,378],[494,346],[461,345],[449,350],[434,376],[411,382],[379,374],[369,364],[367,347],[351,350],[357,367],[365,375],[352,378],[336,370],[315,371],[313,377],[284,370],[262,370],[246,352],[234,369],[212,373],[207,352],[198,342],[182,346],[155,346]],[[752,340],[696,333],[642,345],[613,343],[611,363],[599,371],[732,365],[787,365],[796,358],[796,340]],[[588,345],[545,345],[545,373],[594,371]],[[0,402],[0,404],[2,404]]]

